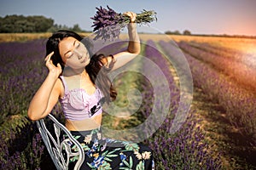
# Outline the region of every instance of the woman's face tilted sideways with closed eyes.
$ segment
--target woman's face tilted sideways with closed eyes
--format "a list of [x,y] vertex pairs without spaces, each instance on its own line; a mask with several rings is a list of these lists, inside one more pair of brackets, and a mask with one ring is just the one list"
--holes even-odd
[[81,69],[90,63],[90,55],[84,44],[74,37],[67,37],[59,43],[61,59],[66,66]]

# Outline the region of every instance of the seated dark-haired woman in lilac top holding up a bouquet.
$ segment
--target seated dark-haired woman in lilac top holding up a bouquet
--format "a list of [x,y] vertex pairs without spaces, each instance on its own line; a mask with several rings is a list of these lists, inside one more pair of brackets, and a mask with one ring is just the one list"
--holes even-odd
[[[45,65],[49,74],[32,98],[27,114],[32,121],[37,121],[61,102],[67,129],[84,147],[81,169],[154,168],[152,152],[143,144],[102,139],[102,103],[116,97],[106,74],[140,53],[134,23],[136,14],[125,14],[131,18],[130,41],[127,50],[119,54],[94,54],[90,59],[89,48],[80,42],[82,37],[72,31],[57,31],[46,44]],[[110,147],[114,144],[118,147]],[[74,162],[70,163],[70,169]]]

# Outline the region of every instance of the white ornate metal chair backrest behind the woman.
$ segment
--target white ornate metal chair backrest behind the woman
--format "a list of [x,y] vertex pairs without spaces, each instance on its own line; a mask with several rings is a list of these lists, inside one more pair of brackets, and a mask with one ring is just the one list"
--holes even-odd
[[[50,121],[46,123],[48,118]],[[84,150],[79,141],[73,138],[67,127],[63,126],[51,114],[37,121],[37,126],[49,155],[58,170],[67,170],[71,159],[77,160],[75,170],[81,167],[84,161]],[[65,139],[63,138],[64,134],[67,136]],[[75,147],[75,150],[72,150],[71,147]]]

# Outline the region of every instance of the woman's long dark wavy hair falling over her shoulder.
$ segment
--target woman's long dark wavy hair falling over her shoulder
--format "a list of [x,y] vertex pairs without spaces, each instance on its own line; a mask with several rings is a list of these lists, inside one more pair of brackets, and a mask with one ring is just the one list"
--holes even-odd
[[113,68],[114,61],[112,59],[108,68],[104,66],[102,59],[107,58],[108,56],[105,56],[104,54],[92,54],[91,48],[93,45],[89,39],[83,39],[83,37],[79,36],[79,34],[73,31],[56,31],[51,37],[49,37],[48,41],[46,42],[46,56],[54,51],[54,54],[51,57],[53,64],[57,65],[60,63],[63,71],[65,63],[61,59],[59,42],[61,42],[61,40],[65,37],[74,37],[79,40],[79,42],[83,40],[84,46],[87,48],[90,54],[90,64],[85,67],[85,70],[88,72],[91,82],[96,84],[96,86],[102,90],[102,93],[108,103],[109,101],[116,99],[117,93],[107,75],[108,72]]

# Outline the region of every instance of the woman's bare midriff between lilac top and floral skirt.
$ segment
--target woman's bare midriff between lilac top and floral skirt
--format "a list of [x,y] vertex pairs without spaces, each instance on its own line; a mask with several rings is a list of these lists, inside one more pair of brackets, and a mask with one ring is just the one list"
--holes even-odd
[[86,131],[96,129],[101,126],[102,114],[84,119],[82,121],[66,120],[66,127],[69,131]]

